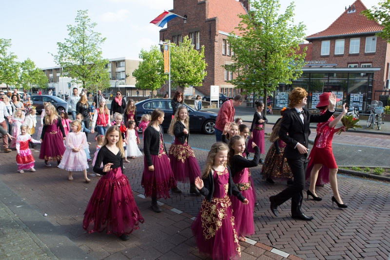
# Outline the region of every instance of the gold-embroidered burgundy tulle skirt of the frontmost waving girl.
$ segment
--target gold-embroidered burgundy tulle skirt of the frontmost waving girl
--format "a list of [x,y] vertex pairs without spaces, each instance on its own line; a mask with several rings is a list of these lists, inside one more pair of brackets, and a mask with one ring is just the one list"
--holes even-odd
[[228,196],[213,198],[211,202],[203,199],[200,211],[191,225],[199,253],[213,260],[241,256],[234,226],[232,202]]

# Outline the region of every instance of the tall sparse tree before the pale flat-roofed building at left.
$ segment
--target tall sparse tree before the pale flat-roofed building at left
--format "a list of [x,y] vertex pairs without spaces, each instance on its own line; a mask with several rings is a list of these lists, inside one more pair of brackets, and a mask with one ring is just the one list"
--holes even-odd
[[75,26],[67,26],[69,38],[65,42],[57,42],[58,54],[53,57],[73,82],[81,83],[83,88],[92,88],[98,77],[101,82],[109,80],[109,74],[104,69],[108,60],[102,58],[100,48],[106,38],[93,30],[97,23],[91,23],[87,10],[79,10],[75,20]]

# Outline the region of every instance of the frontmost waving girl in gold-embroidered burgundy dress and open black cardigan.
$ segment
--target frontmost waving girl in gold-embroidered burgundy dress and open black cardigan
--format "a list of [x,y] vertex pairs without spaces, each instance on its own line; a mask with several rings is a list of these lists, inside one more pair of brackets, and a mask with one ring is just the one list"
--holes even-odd
[[228,150],[223,142],[213,144],[202,179],[195,179],[196,188],[205,198],[191,229],[199,253],[212,257],[213,260],[229,260],[236,255],[241,256],[229,195],[234,195],[244,204],[249,203],[234,185],[230,168],[226,165]]

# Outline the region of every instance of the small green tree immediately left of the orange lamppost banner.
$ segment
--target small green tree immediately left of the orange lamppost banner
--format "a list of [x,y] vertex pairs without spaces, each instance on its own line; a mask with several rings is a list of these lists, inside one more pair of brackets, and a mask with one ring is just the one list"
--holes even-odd
[[141,50],[138,68],[133,72],[136,77],[136,87],[140,89],[151,89],[152,98],[153,91],[159,89],[165,80],[168,80],[168,75],[164,74],[164,59],[160,49],[157,46],[152,46],[150,51]]

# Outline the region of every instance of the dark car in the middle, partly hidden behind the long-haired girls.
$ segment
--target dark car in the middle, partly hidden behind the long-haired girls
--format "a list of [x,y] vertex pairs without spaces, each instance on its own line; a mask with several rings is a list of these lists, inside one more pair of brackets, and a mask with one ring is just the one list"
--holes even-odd
[[[188,116],[190,117],[190,131],[202,131],[205,134],[214,134],[215,120],[217,114],[208,111],[195,111],[189,105],[184,104],[188,108]],[[172,120],[171,100],[165,99],[148,99],[136,103],[137,119],[141,120],[143,114],[152,114],[153,110],[159,108],[164,111],[165,117],[162,122],[164,130],[168,130]]]

